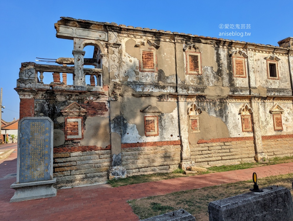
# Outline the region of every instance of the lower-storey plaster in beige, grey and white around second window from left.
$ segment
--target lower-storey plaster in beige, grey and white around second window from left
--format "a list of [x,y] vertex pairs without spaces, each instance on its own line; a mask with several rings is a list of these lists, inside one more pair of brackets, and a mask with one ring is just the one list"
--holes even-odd
[[[122,143],[179,140],[177,102],[157,102],[156,97],[132,96],[122,97],[121,100]],[[161,110],[158,115],[159,136],[144,136],[144,115],[156,115],[140,112],[149,104]]]

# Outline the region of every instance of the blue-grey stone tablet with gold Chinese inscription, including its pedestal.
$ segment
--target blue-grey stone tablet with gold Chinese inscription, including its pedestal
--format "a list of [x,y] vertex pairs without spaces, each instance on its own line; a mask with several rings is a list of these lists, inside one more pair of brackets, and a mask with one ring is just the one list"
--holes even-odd
[[53,122],[24,117],[18,123],[16,190],[10,202],[56,196],[53,178]]

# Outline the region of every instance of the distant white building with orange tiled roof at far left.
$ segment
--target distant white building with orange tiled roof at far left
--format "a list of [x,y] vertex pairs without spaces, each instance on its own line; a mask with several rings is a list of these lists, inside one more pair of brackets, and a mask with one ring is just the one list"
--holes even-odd
[[[8,137],[8,143],[12,143],[11,134],[17,136],[18,133],[18,121],[19,119],[13,119],[11,122],[6,122],[1,119],[1,140],[3,143],[6,143],[6,137]],[[14,139],[14,142],[17,142],[17,139]]]

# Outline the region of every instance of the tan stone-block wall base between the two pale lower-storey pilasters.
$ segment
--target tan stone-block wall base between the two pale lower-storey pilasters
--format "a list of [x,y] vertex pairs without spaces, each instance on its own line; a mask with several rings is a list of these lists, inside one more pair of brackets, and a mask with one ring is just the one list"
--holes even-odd
[[[253,139],[253,138],[252,138]],[[254,162],[253,140],[201,143],[190,145],[191,158],[196,166],[211,167],[241,162]]]

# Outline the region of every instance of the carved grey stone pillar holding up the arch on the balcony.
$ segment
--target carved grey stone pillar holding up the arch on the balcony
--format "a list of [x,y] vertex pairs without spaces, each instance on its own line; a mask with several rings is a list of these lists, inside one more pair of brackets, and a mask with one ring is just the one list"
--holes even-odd
[[74,56],[74,88],[86,90],[86,78],[84,75],[84,54],[85,51],[73,50]]

